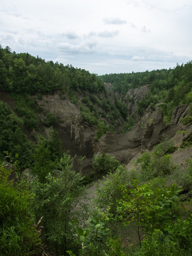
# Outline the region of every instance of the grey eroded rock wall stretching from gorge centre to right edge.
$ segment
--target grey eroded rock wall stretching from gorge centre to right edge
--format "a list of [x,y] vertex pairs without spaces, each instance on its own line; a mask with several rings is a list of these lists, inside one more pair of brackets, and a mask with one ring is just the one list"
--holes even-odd
[[147,113],[147,121],[144,127],[138,125],[132,131],[124,134],[117,135],[107,132],[103,135],[95,145],[95,153],[110,154],[121,163],[127,164],[140,151],[144,149],[151,150],[153,146],[161,141],[163,134],[166,134],[170,139],[176,139],[176,144],[181,145],[192,134],[192,125],[188,126],[188,134],[176,134],[176,131],[183,128],[178,122],[186,116],[186,110],[186,105],[177,107],[173,113],[172,123],[169,125],[164,124],[164,116],[160,110]]

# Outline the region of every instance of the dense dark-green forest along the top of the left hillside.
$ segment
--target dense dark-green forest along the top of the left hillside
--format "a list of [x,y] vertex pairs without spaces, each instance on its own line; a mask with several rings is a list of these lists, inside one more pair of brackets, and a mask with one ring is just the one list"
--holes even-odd
[[46,62],[28,53],[11,53],[0,49],[0,89],[8,92],[28,94],[52,94],[55,90],[65,90],[75,103],[74,90],[105,92],[105,87],[95,74],[72,65]]

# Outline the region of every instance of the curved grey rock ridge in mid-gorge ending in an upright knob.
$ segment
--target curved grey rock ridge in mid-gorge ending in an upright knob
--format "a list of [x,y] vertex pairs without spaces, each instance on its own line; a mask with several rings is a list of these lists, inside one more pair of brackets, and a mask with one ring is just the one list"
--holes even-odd
[[142,149],[151,149],[158,144],[165,130],[163,114],[157,110],[151,114],[146,127],[138,126],[119,135],[107,132],[97,143],[97,153],[108,153],[127,164]]

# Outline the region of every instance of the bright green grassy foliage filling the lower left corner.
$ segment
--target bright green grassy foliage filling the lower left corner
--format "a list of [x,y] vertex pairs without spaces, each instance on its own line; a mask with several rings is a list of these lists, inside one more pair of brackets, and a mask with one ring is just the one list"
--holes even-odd
[[[7,180],[0,167],[0,255],[36,255],[40,239],[30,216],[31,193]],[[8,175],[7,175],[8,174]]]

